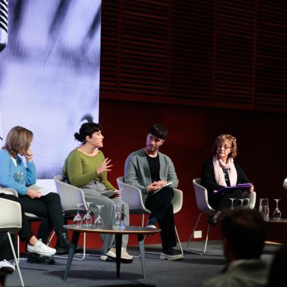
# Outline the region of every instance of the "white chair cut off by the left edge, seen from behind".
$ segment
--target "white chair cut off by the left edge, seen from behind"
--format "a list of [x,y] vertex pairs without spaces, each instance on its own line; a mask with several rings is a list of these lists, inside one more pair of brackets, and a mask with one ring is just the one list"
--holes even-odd
[[24,286],[23,278],[18,264],[18,258],[16,258],[16,253],[10,234],[16,234],[22,228],[22,213],[20,204],[18,202],[13,202],[12,200],[6,200],[0,197],[0,218],[0,232],[8,234],[14,260],[18,269],[20,282],[22,286]]

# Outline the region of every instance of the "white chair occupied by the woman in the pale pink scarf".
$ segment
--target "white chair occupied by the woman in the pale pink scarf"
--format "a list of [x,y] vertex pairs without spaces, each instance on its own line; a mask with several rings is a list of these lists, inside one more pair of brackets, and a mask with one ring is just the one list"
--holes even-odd
[[[191,236],[189,236],[189,241],[187,243],[187,251],[193,252],[195,254],[205,254],[206,253],[206,246],[207,246],[207,241],[208,241],[208,234],[209,234],[209,228],[210,225],[207,224],[207,232],[206,232],[206,239],[205,239],[205,245],[204,245],[204,251],[203,252],[197,252],[197,251],[191,251],[189,250],[189,244],[191,243],[191,238],[193,237],[193,234],[197,228],[197,224],[200,221],[200,218],[202,217],[202,213],[207,213],[208,215],[210,213],[215,212],[215,210],[208,204],[208,195],[207,195],[207,190],[205,187],[202,187],[201,184],[201,178],[195,178],[193,179],[193,187],[195,191],[195,199],[197,203],[197,207],[200,210],[200,215],[197,217],[197,221],[195,223],[195,226],[193,228],[193,231],[191,232]],[[255,207],[256,203],[256,193],[245,193],[245,198],[249,198],[249,208],[253,209]]]

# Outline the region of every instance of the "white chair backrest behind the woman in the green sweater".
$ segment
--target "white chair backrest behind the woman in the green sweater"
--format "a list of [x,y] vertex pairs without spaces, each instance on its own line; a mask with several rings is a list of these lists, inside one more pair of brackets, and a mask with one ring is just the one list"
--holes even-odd
[[77,210],[77,204],[83,204],[83,209],[87,210],[85,195],[79,187],[62,182],[59,175],[55,176],[54,180],[63,210]]

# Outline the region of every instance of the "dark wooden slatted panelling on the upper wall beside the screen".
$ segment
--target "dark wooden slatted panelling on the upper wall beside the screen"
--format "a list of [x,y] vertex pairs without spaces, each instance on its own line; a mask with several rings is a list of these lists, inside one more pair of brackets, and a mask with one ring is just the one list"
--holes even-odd
[[287,1],[104,0],[100,97],[287,111]]

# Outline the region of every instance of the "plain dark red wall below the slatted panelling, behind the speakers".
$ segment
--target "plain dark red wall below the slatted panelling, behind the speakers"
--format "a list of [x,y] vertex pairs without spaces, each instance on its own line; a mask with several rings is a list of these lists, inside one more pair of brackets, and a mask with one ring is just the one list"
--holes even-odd
[[[287,191],[282,187],[282,182],[287,177],[287,137],[284,135],[286,115],[100,100],[99,121],[105,136],[102,150],[113,162],[109,180],[115,187],[115,178],[124,174],[126,156],[143,148],[148,128],[154,123],[167,126],[169,135],[161,151],[172,158],[179,178],[179,189],[184,193],[182,210],[176,215],[181,241],[187,241],[199,214],[192,179],[200,177],[202,164],[210,156],[213,140],[220,133],[230,133],[236,137],[236,161],[254,183],[258,198],[269,197],[271,212],[275,208],[273,198],[282,199],[279,202],[282,217],[287,217],[284,208]],[[133,224],[141,223],[135,215],[131,217]],[[205,236],[206,228],[206,222],[202,220],[197,230],[202,230]],[[220,238],[218,227],[212,228],[210,238]],[[159,237],[149,241],[160,242]],[[134,240],[131,238],[130,242],[133,243]]]

